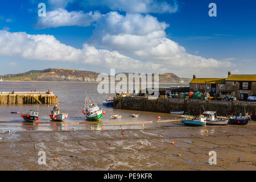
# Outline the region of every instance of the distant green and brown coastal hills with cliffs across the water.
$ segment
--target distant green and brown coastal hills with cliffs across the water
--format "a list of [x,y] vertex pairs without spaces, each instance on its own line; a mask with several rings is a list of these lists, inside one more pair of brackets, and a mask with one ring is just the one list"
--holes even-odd
[[[26,73],[0,76],[3,81],[74,81],[100,82],[97,77],[100,73],[91,71],[76,71],[73,69],[44,69],[32,70]],[[127,74],[127,73],[126,73]],[[159,75],[160,83],[188,84],[191,79],[180,78],[174,73]]]

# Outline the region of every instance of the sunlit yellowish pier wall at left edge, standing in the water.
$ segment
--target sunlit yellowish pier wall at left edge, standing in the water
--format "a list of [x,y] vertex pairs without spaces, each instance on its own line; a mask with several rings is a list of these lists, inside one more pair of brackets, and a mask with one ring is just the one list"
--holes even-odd
[[53,92],[0,92],[0,105],[12,104],[57,104]]

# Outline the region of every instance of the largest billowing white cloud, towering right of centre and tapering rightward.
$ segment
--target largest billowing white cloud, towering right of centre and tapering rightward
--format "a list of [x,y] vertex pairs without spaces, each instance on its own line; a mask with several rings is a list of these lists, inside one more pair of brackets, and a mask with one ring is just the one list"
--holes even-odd
[[166,72],[177,69],[188,72],[188,65],[189,69],[198,71],[230,66],[228,60],[206,59],[187,53],[184,47],[166,37],[168,26],[151,15],[110,12],[98,22],[89,43],[158,64],[158,68]]

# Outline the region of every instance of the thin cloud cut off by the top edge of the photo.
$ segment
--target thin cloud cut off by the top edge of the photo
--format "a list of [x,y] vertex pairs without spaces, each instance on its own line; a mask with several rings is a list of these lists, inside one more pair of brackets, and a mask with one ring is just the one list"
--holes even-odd
[[128,13],[175,13],[178,5],[176,0],[84,0],[82,5],[102,5],[111,10],[125,11]]

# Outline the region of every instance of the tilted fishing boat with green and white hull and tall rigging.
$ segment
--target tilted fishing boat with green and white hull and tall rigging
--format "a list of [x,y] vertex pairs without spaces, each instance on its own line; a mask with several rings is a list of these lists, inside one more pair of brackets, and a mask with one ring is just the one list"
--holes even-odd
[[82,110],[82,114],[85,115],[88,121],[100,121],[102,118],[102,110],[96,104],[96,102],[90,101],[90,97],[85,97],[84,110]]

